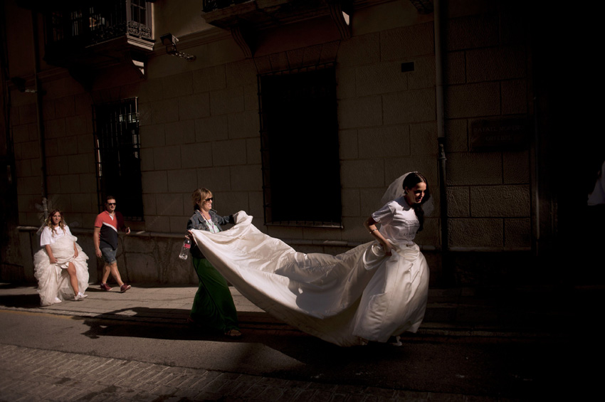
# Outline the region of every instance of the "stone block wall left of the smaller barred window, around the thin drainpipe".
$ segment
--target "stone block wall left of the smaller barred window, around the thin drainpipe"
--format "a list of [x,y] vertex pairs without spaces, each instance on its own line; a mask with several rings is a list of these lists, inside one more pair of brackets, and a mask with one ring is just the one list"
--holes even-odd
[[[45,82],[43,88],[48,210],[65,211],[70,227],[90,227],[98,213],[90,95],[68,76]],[[17,91],[12,95],[19,223],[40,226],[42,179],[36,95]]]

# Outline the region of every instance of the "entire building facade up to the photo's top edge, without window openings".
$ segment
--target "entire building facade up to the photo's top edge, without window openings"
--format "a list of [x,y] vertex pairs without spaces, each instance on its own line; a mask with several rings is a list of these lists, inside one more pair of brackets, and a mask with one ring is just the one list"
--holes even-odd
[[[132,188],[141,189],[142,216],[130,221],[133,234],[120,240],[118,263],[129,282],[196,281],[189,261],[177,255],[192,212],[191,191],[201,186],[214,192],[219,213],[244,210],[258,228],[297,250],[340,253],[371,240],[363,221],[381,206],[392,180],[417,170],[432,190],[433,208],[417,240],[433,285],[447,276],[442,251],[501,256],[536,250],[534,49],[530,17],[508,2],[448,1],[438,17],[431,1],[231,1],[222,9],[220,1],[144,3],[153,16],[144,46],[95,43],[85,55],[61,59],[45,54],[54,10],[4,2],[9,76],[2,84],[3,129],[7,160],[14,159],[12,181],[4,186],[16,205],[5,200],[5,210],[14,213],[3,242],[3,280],[33,279],[42,181],[48,210],[65,211],[94,255],[93,221],[107,195],[100,194],[95,107],[132,98],[141,171]],[[213,3],[219,9],[211,9]],[[345,14],[335,15],[342,11],[348,24]],[[93,19],[87,21],[93,26]],[[178,51],[195,60],[168,54],[160,40],[167,32],[179,38]],[[117,50],[122,56],[110,60],[107,54]],[[130,59],[123,57],[128,52]],[[264,75],[320,65],[335,71],[340,170],[334,186],[340,188],[341,219],[332,226],[270,224],[259,83]],[[14,77],[24,91],[6,79]],[[36,77],[43,90],[39,112],[36,93],[27,91],[35,89]],[[507,131],[510,125],[521,126],[517,137]],[[482,127],[508,137],[486,137]],[[440,173],[443,157],[446,176]],[[314,162],[310,154],[307,163]],[[301,182],[298,196],[325,203],[314,182]],[[127,194],[112,195],[120,210]],[[93,267],[100,267],[94,258],[90,266],[94,279]]]

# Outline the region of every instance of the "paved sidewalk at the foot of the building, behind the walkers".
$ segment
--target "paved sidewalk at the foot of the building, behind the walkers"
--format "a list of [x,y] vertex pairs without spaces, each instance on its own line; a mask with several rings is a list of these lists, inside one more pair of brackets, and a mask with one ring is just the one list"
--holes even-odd
[[[253,305],[234,287],[230,289],[238,312],[245,313],[240,314],[242,329],[298,331]],[[88,295],[85,300],[64,300],[56,305],[41,307],[35,285],[0,283],[0,309],[134,322],[185,324],[196,290],[197,287],[193,285],[135,284],[127,292],[120,293],[117,286],[110,292],[105,292],[100,290],[99,285],[90,285],[85,292]],[[460,294],[461,290],[429,290],[426,317],[418,334],[506,338],[562,335],[541,325],[545,315],[543,312],[530,315],[525,321],[519,322],[520,312],[525,315],[531,313],[525,305],[520,308],[508,305],[504,310],[493,304],[469,302],[473,297]],[[510,317],[515,317],[516,321],[511,321]],[[527,322],[531,322],[531,325],[527,326]]]

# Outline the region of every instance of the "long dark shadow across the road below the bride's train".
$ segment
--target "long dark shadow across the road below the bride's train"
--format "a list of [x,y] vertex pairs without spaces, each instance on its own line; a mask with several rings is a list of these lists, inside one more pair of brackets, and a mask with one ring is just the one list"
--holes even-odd
[[[259,321],[258,313],[239,315],[243,337],[228,339],[185,323],[189,311],[147,307],[116,310],[114,317],[131,314],[129,320],[100,317],[73,317],[83,321],[90,339],[134,337],[165,341],[220,342],[224,354],[236,350],[236,361],[229,371],[271,376],[295,381],[325,384],[364,385],[386,388],[431,389],[444,393],[471,393],[513,398],[538,396],[554,384],[561,360],[567,361],[567,347],[561,339],[498,339],[492,341],[465,337],[419,337],[410,335],[403,347],[369,344],[367,347],[337,347],[278,322]],[[172,314],[181,322],[152,322],[149,317]],[[263,321],[267,321],[263,319]],[[191,345],[192,368],[204,367],[206,349]],[[229,349],[233,344],[235,349]],[[212,349],[216,350],[216,349]],[[259,366],[258,356],[278,351],[298,361],[287,367]],[[552,351],[557,350],[554,356]],[[203,352],[200,352],[203,351]],[[559,368],[557,368],[559,367]]]

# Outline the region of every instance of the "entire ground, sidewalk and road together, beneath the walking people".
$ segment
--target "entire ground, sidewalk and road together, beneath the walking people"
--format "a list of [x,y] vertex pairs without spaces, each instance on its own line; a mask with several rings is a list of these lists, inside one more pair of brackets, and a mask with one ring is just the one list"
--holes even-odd
[[35,287],[6,285],[0,401],[532,400],[557,384],[567,350],[563,334],[542,326],[439,322],[403,347],[338,348],[280,324],[236,290],[244,337],[233,341],[186,326],[195,290],[91,287],[82,302],[39,307]]

